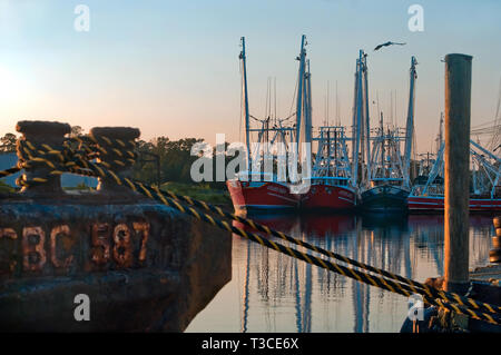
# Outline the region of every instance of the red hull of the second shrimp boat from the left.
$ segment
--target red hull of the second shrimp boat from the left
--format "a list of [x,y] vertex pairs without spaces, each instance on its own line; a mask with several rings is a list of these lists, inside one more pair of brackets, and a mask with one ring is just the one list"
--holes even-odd
[[301,200],[302,209],[351,209],[355,207],[356,195],[342,186],[315,184],[304,194]]

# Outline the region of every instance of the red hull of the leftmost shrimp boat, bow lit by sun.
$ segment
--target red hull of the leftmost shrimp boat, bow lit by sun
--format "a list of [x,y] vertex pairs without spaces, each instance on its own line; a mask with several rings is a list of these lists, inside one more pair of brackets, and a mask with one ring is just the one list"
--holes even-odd
[[287,186],[274,181],[226,181],[236,211],[294,210],[298,207],[298,196],[291,194]]

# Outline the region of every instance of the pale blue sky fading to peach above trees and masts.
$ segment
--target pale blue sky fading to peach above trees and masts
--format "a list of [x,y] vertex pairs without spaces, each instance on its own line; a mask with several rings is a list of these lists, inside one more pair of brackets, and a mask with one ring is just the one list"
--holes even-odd
[[[423,31],[410,31],[412,4]],[[89,31],[77,31],[78,4]],[[446,53],[473,56],[472,126],[492,121],[500,95],[501,2],[497,0],[0,0],[0,135],[21,119],[132,126],[141,138],[243,140],[239,39],[246,38],[250,114],[265,115],[276,78],[277,114],[291,112],[301,36],[311,60],[313,122],[337,105],[351,125],[353,75],[367,53],[370,99],[404,125],[411,56],[418,59],[418,151],[430,150],[443,110]],[[380,51],[385,41],[405,42]],[[376,103],[371,107],[376,125]]]

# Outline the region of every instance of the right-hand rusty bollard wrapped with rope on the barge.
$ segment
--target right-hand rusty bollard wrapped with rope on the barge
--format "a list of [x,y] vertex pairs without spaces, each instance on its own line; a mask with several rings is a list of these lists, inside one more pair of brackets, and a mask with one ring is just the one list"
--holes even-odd
[[[131,127],[94,127],[89,135],[100,146],[99,161],[110,166],[110,170],[121,178],[131,178],[132,161],[136,159],[134,140],[139,138],[140,131]],[[98,190],[101,193],[132,191],[126,186],[119,186],[112,178],[99,178]]]

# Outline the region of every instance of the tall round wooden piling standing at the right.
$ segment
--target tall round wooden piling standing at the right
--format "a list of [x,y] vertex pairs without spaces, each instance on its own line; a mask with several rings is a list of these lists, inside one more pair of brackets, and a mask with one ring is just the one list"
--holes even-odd
[[444,288],[469,287],[471,56],[445,56]]

